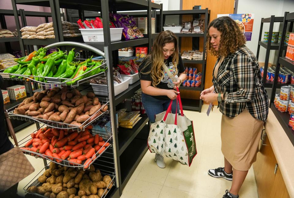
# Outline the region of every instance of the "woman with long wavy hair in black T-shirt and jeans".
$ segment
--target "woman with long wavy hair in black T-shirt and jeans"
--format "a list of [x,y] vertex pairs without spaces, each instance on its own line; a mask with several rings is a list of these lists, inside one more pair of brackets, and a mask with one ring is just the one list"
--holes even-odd
[[[168,73],[163,69],[167,66],[173,76],[178,76],[172,82]],[[176,99],[177,92],[174,88],[186,79],[183,60],[179,54],[178,41],[171,31],[160,32],[154,41],[153,50],[146,56],[139,66],[139,76],[142,89],[142,103],[150,122],[155,122],[155,115],[168,109],[172,100]],[[176,78],[175,78],[176,79]],[[171,84],[168,85],[168,84]],[[176,103],[172,103],[172,113],[175,113]],[[179,111],[179,110],[178,110]],[[164,157],[156,154],[157,166],[165,168]]]

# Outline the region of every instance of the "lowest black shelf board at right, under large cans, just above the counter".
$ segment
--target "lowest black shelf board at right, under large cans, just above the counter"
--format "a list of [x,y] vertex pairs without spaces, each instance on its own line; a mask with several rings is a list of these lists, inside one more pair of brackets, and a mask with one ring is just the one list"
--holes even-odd
[[290,120],[290,115],[288,114],[288,112],[280,112],[279,110],[277,110],[273,103],[271,104],[270,109],[273,111],[273,114],[276,116],[277,120],[280,122],[289,140],[294,146],[294,131],[292,130],[292,127],[288,125]]

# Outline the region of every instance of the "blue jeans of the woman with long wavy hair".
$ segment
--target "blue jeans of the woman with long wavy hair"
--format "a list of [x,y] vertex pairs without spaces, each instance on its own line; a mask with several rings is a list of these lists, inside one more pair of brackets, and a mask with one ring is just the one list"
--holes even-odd
[[[170,101],[171,101],[170,99],[168,100],[155,99],[151,95],[142,93],[142,103],[151,123],[155,122],[156,114],[160,114],[161,112],[168,110],[168,105]],[[175,114],[175,108],[176,108],[176,100],[174,100],[171,105],[171,112],[173,114]],[[180,113],[179,104],[178,104],[178,113]]]

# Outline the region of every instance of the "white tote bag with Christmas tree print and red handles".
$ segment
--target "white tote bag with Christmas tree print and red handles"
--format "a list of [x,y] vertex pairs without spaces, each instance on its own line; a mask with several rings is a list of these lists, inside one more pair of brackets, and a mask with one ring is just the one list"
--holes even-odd
[[[179,91],[179,89],[177,88]],[[155,117],[155,123],[150,127],[148,147],[150,152],[191,165],[197,154],[193,123],[183,113],[181,97],[178,94],[180,114],[171,113],[171,100],[168,110]]]

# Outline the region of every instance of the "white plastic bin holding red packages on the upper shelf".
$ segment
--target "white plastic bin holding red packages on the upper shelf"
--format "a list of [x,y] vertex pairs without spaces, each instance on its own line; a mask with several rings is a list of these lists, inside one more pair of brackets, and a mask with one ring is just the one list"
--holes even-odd
[[[104,43],[103,28],[79,29],[85,43]],[[123,28],[110,28],[111,42],[122,39]]]

